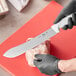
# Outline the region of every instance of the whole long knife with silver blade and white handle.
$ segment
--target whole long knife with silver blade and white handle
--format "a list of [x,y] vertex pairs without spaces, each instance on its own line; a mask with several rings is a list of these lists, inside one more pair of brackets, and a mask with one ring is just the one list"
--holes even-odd
[[68,23],[69,17],[72,17],[72,15],[65,17],[59,23],[54,24],[53,26],[51,26],[51,28],[49,28],[45,32],[41,33],[40,35],[36,36],[35,38],[31,39],[30,41],[27,41],[19,46],[9,49],[7,52],[4,53],[3,56],[8,57],[8,58],[14,58],[14,57],[22,55],[29,49],[32,49],[32,48],[38,46],[42,42],[46,41],[47,39],[49,39],[49,38],[53,37],[54,35],[56,35],[57,33],[59,33],[60,28],[64,27],[64,25]]

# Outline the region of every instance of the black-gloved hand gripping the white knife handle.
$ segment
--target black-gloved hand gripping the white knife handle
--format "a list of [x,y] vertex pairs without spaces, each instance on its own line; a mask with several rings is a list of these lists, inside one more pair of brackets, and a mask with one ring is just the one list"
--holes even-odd
[[73,14],[72,18],[70,17],[68,19],[68,24],[65,25],[63,28],[64,30],[66,29],[71,29],[74,25],[76,25],[76,0],[72,0],[66,7],[63,8],[63,10],[60,12],[59,16],[55,20],[54,24],[58,23],[61,21],[64,17]]

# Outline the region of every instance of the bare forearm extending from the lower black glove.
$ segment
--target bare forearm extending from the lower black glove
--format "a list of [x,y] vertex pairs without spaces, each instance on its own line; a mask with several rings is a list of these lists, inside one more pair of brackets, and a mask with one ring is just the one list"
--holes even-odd
[[76,71],[76,58],[70,60],[60,60],[58,62],[58,68],[62,72]]

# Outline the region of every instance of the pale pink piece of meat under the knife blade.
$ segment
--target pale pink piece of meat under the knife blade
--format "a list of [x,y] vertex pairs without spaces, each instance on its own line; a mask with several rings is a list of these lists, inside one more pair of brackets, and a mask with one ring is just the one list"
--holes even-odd
[[[30,40],[29,38],[28,40]],[[30,49],[26,52],[26,60],[28,65],[31,67],[35,67],[33,64],[33,60],[35,59],[35,54],[48,54],[50,53],[50,40],[46,40],[45,42],[41,43],[37,47]]]

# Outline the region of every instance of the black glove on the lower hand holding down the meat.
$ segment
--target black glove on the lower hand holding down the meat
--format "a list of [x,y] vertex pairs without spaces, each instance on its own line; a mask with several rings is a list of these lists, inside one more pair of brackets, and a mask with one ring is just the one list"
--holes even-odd
[[44,74],[54,75],[61,73],[58,69],[58,61],[60,59],[49,54],[37,54],[35,55],[34,65]]

